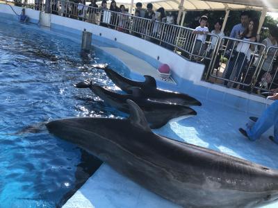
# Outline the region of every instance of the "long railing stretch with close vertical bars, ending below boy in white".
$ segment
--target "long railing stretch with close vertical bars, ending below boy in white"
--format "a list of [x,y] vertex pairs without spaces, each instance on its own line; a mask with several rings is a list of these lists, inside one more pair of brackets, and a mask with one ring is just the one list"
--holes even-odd
[[160,44],[168,49],[177,51],[188,60],[201,62],[206,60],[211,64],[215,48],[213,51],[207,46],[216,40],[218,36],[213,34],[203,35],[202,42],[197,39],[198,35],[193,34],[193,29],[167,24],[161,21],[152,21],[142,17],[135,17],[128,13],[113,12],[111,10],[93,8],[82,3],[72,3],[69,1],[53,1],[51,12],[56,15],[63,15],[93,24],[113,28],[117,31],[136,35],[145,40]]

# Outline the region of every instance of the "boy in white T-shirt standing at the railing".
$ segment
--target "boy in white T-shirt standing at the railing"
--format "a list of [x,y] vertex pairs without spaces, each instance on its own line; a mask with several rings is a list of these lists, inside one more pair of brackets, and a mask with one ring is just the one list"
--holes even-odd
[[197,55],[202,55],[204,53],[204,48],[206,44],[206,34],[208,34],[208,28],[206,24],[208,22],[208,17],[202,16],[200,19],[200,25],[195,28],[193,34],[197,35],[193,53]]

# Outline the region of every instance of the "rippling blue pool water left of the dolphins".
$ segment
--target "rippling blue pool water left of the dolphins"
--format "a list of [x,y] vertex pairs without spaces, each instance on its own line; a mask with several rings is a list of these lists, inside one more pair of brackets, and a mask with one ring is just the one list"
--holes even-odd
[[119,116],[90,90],[72,85],[93,78],[113,87],[92,64],[120,64],[97,49],[81,54],[79,43],[34,25],[0,19],[0,40],[0,207],[60,206],[101,162],[49,135],[44,122]]

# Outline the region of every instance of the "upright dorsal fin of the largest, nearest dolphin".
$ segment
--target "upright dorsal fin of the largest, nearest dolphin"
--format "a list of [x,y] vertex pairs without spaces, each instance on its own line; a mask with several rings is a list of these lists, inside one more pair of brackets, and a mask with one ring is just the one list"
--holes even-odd
[[149,124],[147,123],[147,119],[141,108],[129,99],[126,100],[126,103],[129,105],[129,120],[131,121],[131,123],[137,128],[141,128],[142,130],[151,132],[152,130],[151,128],[149,128]]

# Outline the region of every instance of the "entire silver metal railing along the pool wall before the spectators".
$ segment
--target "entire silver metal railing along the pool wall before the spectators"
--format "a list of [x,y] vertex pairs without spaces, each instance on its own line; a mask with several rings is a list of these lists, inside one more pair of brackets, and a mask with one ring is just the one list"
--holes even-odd
[[[6,0],[6,2],[44,10],[45,0]],[[188,60],[202,62],[205,64],[204,80],[214,78],[220,85],[248,92],[254,92],[254,89],[265,91],[274,86],[278,87],[277,64],[275,64],[277,47],[266,49],[264,44],[230,37],[223,37],[220,40],[218,35],[211,33],[199,36],[195,35],[191,28],[65,0],[52,0],[51,13],[135,35],[176,51]],[[268,69],[265,69],[267,65]],[[264,71],[270,73],[271,78],[268,75],[263,76]],[[261,80],[262,78],[268,80],[267,85]]]

